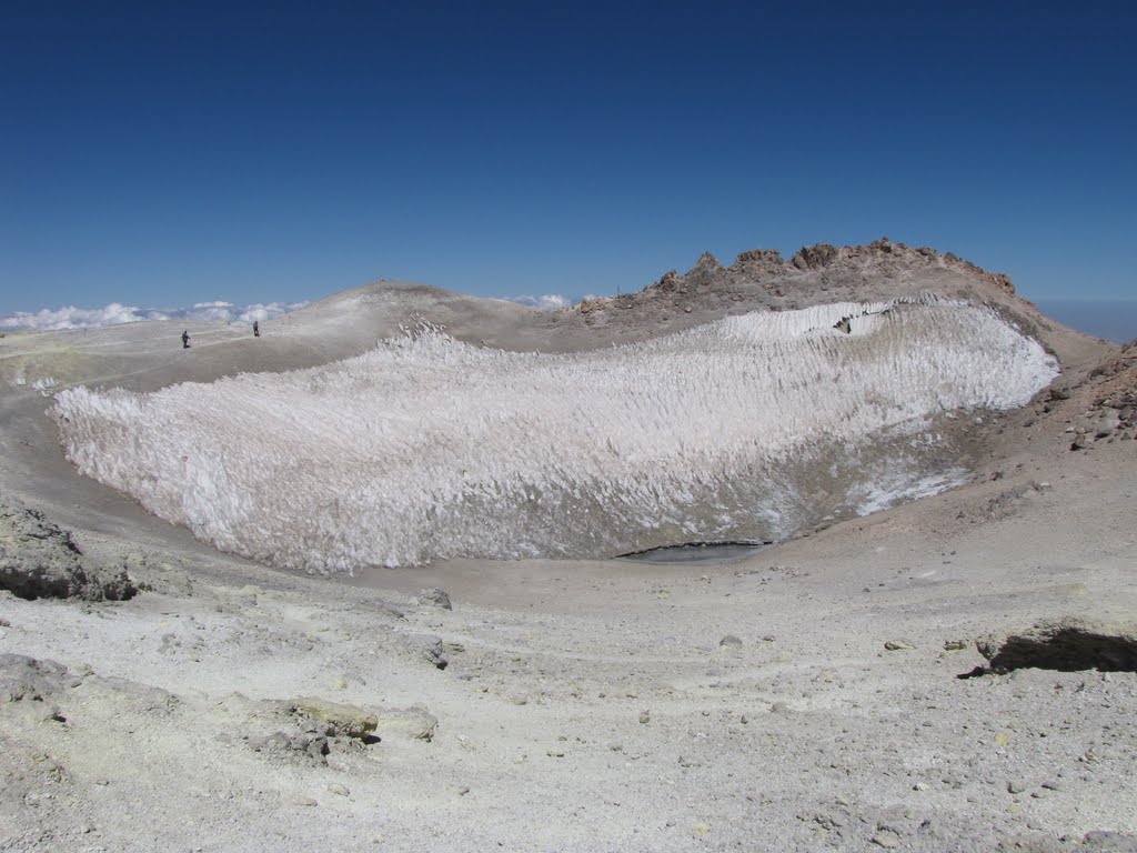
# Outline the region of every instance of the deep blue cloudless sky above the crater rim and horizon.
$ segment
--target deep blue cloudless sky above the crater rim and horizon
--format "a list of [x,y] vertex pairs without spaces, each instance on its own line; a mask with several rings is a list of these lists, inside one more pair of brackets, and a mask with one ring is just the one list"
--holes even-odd
[[1137,297],[1137,5],[0,0],[0,313],[882,234]]

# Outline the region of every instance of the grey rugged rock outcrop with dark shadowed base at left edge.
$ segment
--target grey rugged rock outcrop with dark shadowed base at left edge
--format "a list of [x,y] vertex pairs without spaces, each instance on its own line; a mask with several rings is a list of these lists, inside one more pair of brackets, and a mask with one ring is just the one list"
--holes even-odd
[[138,588],[123,568],[83,560],[72,535],[17,500],[0,500],[0,589],[20,598],[124,601]]

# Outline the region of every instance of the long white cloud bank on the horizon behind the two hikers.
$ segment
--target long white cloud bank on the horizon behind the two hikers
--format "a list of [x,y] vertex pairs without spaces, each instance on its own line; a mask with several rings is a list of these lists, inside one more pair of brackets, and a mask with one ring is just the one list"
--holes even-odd
[[301,308],[307,303],[254,303],[234,305],[222,300],[194,303],[190,308],[139,308],[133,305],[111,303],[102,308],[42,308],[38,312],[0,314],[0,329],[34,329],[55,331],[60,329],[96,329],[103,325],[139,323],[143,320],[219,320],[227,323],[251,323],[266,321]]

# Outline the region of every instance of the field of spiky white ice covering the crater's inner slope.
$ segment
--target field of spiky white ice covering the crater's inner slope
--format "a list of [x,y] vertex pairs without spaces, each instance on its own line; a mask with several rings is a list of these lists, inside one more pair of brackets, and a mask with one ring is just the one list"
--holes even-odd
[[572,355],[426,328],[307,371],[68,389],[55,414],[82,473],[160,517],[334,572],[779,538],[945,477],[935,419],[1055,373],[986,308],[837,304]]

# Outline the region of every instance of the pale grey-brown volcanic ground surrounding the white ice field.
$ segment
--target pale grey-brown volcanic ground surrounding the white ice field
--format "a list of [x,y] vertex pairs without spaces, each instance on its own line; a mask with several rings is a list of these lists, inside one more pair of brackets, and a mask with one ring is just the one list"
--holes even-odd
[[[91,575],[140,587],[0,591],[0,850],[1137,850],[1137,351],[1031,314],[981,271],[873,246],[806,254],[777,284],[752,268],[765,255],[700,262],[703,280],[630,307],[537,314],[381,283],[257,341],[192,328],[188,351],[164,323],[0,339],[0,553],[32,560],[55,524]],[[882,283],[841,290],[865,264]],[[576,351],[769,293],[803,307],[912,282],[1015,308],[1061,374],[1023,408],[961,417],[968,485],[736,562],[309,577],[78,475],[47,414],[78,384],[324,364],[413,317]],[[1060,619],[1112,645],[973,672],[977,640]]]

